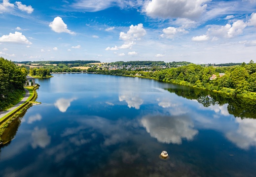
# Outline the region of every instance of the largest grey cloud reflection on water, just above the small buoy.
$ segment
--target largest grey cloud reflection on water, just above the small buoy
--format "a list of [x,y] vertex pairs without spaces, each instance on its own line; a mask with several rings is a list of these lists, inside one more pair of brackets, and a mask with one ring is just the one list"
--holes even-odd
[[183,117],[171,116],[145,116],[141,120],[151,137],[161,143],[182,144],[182,139],[192,141],[198,133],[193,129],[193,122]]

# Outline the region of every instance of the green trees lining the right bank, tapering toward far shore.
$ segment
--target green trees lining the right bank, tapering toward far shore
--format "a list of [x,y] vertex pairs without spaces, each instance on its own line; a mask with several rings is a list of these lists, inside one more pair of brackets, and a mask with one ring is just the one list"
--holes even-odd
[[[226,94],[256,99],[256,94],[251,94],[250,92],[256,92],[256,64],[253,61],[243,66],[229,66],[225,67],[225,69],[188,64],[177,68],[155,71],[98,70],[93,68],[89,68],[87,71],[98,74],[146,77],[198,89],[216,90]],[[224,73],[224,75],[219,75],[220,72]],[[216,78],[210,80],[213,74],[216,75]]]

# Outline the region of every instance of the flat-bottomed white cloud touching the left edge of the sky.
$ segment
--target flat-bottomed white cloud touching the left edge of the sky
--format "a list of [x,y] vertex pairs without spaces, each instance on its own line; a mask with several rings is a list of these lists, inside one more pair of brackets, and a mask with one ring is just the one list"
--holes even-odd
[[21,32],[9,33],[0,37],[0,42],[11,42],[19,44],[32,44]]

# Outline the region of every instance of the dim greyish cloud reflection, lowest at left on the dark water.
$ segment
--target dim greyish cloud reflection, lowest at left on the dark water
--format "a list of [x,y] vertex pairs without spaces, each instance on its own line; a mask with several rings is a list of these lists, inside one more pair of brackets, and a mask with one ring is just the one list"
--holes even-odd
[[33,141],[31,146],[33,148],[45,148],[47,145],[50,144],[51,137],[48,135],[46,128],[39,129],[38,127],[35,127],[31,135]]

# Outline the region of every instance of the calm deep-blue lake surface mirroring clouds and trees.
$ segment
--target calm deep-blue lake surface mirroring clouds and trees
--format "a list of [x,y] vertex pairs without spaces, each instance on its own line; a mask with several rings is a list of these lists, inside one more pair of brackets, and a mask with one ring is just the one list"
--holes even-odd
[[[1,177],[255,177],[256,107],[150,79],[53,74],[0,149]],[[166,150],[168,158],[159,155]]]

